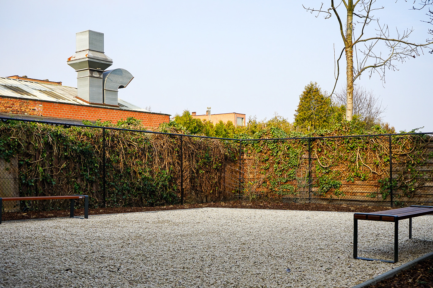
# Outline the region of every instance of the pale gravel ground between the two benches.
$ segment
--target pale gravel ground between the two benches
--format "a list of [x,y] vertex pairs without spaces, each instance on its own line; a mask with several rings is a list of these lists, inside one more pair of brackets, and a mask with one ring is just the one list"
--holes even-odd
[[[433,216],[414,218],[412,240],[408,221],[399,227],[400,261],[391,264],[352,259],[350,212],[203,208],[3,222],[0,287],[352,287],[433,251]],[[359,221],[359,256],[392,259],[393,231]]]

